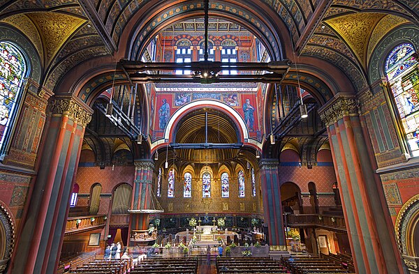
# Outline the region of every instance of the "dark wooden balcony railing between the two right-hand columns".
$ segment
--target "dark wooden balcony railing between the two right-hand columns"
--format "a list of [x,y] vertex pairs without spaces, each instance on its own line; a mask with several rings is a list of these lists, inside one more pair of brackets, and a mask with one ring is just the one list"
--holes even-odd
[[319,214],[287,214],[289,227],[324,227],[346,231],[345,219],[341,216]]

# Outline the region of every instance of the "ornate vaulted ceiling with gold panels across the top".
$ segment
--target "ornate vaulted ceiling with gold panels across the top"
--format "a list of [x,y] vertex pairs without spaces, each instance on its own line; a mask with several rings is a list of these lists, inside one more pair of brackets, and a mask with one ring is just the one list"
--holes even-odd
[[[115,64],[135,47],[140,52],[156,31],[200,15],[203,1],[0,0],[0,22],[27,36],[41,60],[43,85],[56,92],[71,68],[101,56]],[[258,32],[277,59],[294,60],[295,50],[302,60],[331,63],[359,91],[372,84],[368,70],[382,38],[403,25],[419,27],[419,2],[223,0],[210,1],[210,16]]]

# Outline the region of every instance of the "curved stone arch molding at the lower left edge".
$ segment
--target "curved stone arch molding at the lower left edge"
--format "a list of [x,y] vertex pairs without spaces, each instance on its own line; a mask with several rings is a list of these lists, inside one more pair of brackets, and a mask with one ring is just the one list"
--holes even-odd
[[[0,273],[6,273],[8,261],[15,247],[15,223],[6,206],[0,201],[0,237],[3,238],[0,246]],[[1,242],[0,242],[1,243]]]

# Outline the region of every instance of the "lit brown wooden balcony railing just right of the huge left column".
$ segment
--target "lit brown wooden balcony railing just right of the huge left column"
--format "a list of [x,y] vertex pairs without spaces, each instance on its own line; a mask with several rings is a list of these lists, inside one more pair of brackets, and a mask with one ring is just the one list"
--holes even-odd
[[106,216],[105,215],[88,215],[79,217],[67,218],[65,236],[70,234],[76,234],[92,229],[98,229],[105,227]]

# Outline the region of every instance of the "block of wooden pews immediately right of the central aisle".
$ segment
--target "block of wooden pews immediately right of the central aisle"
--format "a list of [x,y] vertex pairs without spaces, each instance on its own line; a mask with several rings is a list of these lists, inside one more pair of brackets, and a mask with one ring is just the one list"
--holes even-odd
[[279,261],[270,257],[219,257],[216,273],[290,273]]

